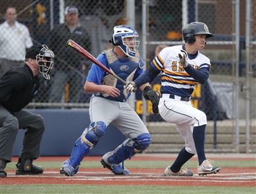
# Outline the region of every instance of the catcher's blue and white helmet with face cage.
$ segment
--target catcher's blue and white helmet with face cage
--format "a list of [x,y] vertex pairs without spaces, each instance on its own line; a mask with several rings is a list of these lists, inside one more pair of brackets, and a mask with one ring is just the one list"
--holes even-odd
[[[132,41],[127,41],[127,37],[132,37]],[[135,57],[136,50],[140,44],[140,41],[136,41],[136,37],[139,37],[139,35],[134,28],[127,25],[120,25],[115,26],[110,42],[112,42],[114,46],[120,47],[128,57]],[[124,43],[124,41],[126,41],[126,43]],[[133,47],[131,47],[130,43],[133,43]]]

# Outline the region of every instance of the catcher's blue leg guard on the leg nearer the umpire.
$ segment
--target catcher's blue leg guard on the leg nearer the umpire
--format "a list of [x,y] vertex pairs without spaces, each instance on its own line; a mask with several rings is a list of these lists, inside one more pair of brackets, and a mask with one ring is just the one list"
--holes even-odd
[[78,166],[83,158],[88,155],[92,149],[105,134],[106,125],[104,122],[92,122],[89,128],[86,128],[81,137],[76,140],[70,158],[63,162],[60,170],[61,174],[74,176],[78,172]]

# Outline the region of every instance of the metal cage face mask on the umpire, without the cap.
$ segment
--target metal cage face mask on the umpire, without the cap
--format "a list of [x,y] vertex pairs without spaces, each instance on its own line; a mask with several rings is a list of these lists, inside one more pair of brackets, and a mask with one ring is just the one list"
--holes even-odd
[[39,72],[47,80],[51,80],[49,74],[53,68],[54,54],[46,45],[43,45],[40,53],[36,56],[36,61],[39,66]]

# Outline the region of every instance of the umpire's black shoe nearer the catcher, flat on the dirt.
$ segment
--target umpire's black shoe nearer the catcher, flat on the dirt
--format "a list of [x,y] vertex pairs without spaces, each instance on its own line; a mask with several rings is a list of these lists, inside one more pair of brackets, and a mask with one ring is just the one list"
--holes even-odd
[[43,174],[43,168],[32,164],[32,159],[18,158],[16,175]]

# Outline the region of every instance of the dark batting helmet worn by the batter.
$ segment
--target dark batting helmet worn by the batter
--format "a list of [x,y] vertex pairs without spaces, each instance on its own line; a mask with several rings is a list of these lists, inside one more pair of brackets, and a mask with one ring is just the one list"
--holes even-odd
[[209,32],[206,24],[202,22],[192,22],[187,26],[185,26],[182,32],[183,39],[187,43],[194,43],[195,42],[194,35],[198,35],[198,34],[205,34],[206,37],[213,37],[213,34]]

